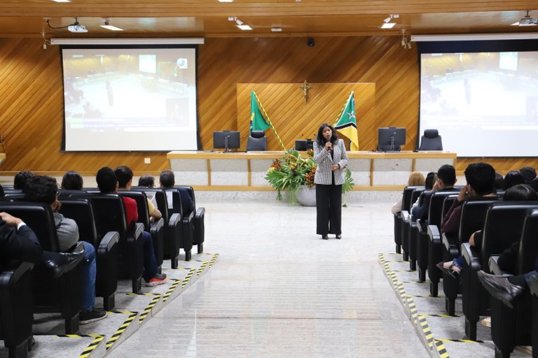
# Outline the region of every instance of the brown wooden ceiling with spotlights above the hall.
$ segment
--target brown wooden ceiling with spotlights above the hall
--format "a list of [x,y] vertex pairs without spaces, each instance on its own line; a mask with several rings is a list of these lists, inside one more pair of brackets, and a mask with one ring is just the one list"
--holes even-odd
[[[0,36],[40,37],[244,37],[244,36],[401,36],[406,34],[478,34],[537,32],[537,27],[511,26],[536,0],[52,0],[0,1]],[[391,14],[396,26],[381,29]],[[88,33],[64,27],[78,22]],[[238,17],[251,31],[242,31],[228,17]],[[125,31],[109,31],[103,18]],[[282,32],[272,32],[281,27]]]

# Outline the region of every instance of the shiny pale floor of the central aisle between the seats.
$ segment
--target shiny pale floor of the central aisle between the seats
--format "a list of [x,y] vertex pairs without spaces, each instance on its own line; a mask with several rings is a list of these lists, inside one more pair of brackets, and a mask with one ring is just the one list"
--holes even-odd
[[429,357],[378,262],[389,203],[343,208],[343,239],[315,208],[200,202],[211,271],[107,357]]

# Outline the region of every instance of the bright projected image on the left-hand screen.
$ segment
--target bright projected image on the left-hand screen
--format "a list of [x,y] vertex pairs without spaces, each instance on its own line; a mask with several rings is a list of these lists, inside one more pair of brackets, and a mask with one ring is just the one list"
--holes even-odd
[[196,150],[194,48],[62,49],[65,150]]

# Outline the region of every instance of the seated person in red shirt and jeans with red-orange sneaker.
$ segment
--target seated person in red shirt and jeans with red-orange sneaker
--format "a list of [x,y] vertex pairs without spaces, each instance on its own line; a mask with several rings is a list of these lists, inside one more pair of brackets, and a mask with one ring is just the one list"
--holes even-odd
[[[118,179],[116,174],[109,166],[104,166],[97,171],[97,187],[103,194],[118,194]],[[125,205],[125,220],[127,227],[132,227],[138,220],[138,208],[135,199],[122,196]],[[147,231],[142,232],[142,245],[144,246],[144,274],[142,277],[146,281],[146,286],[163,285],[166,281],[166,275],[158,273],[157,260],[153,251],[153,242],[151,234]]]

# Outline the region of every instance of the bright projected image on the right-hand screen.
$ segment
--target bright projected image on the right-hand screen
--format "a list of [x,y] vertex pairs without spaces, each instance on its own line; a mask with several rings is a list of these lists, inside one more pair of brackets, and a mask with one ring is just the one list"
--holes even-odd
[[424,129],[462,157],[538,155],[538,52],[422,54]]

